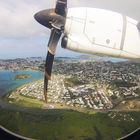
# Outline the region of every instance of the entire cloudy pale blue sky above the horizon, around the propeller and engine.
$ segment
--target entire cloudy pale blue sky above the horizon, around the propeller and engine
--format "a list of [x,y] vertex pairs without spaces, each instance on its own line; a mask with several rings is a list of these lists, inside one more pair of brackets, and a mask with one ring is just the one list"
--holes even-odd
[[[0,59],[45,57],[50,30],[37,23],[34,14],[55,7],[55,0],[0,1]],[[139,0],[68,0],[68,7],[93,7],[112,10],[140,21]],[[56,56],[78,56],[61,48]]]

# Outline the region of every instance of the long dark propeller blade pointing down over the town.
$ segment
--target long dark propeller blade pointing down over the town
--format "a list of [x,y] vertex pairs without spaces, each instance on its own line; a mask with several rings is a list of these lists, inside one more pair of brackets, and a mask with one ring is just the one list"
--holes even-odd
[[61,32],[57,29],[52,29],[51,36],[48,43],[48,54],[45,62],[44,97],[46,102],[47,102],[48,80],[51,80],[54,55],[60,37],[61,37]]

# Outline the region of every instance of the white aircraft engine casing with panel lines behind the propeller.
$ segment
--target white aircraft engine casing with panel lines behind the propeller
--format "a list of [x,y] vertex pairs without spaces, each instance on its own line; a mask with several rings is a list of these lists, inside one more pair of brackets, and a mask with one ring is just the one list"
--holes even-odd
[[69,8],[64,35],[66,49],[97,55],[140,59],[138,21],[96,8]]

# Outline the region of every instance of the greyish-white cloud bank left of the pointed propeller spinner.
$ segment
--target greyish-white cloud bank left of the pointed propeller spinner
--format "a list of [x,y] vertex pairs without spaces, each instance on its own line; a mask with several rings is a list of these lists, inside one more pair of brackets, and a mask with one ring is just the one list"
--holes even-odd
[[5,0],[0,1],[0,37],[29,37],[48,30],[34,20],[34,14],[49,8],[51,0]]

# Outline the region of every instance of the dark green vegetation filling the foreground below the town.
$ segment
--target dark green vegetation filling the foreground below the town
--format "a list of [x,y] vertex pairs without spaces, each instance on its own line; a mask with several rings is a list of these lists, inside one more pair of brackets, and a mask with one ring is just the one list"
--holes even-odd
[[121,115],[112,119],[108,114],[89,115],[64,109],[24,108],[17,111],[0,108],[0,124],[20,135],[41,140],[111,140],[140,126],[140,112],[121,113],[134,118],[135,121],[129,122]]

